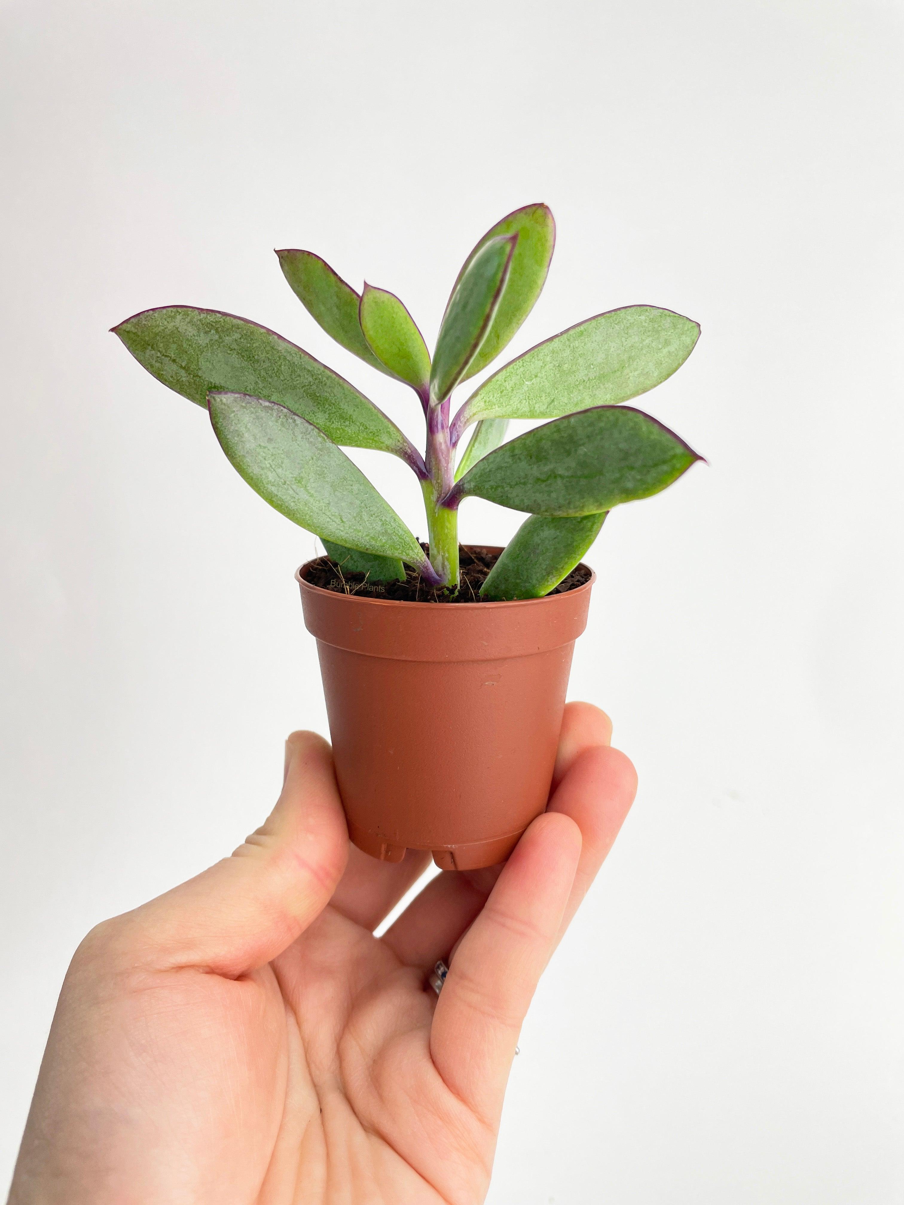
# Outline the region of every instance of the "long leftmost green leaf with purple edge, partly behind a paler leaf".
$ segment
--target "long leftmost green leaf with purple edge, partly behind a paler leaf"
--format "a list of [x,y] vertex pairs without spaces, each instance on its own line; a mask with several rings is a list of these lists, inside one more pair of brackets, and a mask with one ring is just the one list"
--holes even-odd
[[[395,423],[287,339],[217,310],[145,310],[113,328],[152,376],[183,398],[207,405],[213,390],[278,401],[346,447],[377,448],[410,460]],[[413,449],[411,449],[413,451]]]

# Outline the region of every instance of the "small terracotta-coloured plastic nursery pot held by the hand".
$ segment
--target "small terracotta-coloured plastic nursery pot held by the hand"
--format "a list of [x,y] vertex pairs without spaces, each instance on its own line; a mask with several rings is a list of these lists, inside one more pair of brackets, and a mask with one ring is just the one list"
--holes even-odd
[[352,841],[444,870],[504,862],[546,807],[595,575],[518,602],[401,602],[312,586],[311,564],[295,577]]

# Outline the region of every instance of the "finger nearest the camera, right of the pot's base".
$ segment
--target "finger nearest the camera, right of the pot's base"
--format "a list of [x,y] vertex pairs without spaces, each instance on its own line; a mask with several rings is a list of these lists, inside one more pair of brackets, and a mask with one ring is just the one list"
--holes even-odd
[[538,817],[462,939],[436,1001],[434,1065],[447,1087],[495,1124],[524,1015],[556,946],[581,854],[573,819]]

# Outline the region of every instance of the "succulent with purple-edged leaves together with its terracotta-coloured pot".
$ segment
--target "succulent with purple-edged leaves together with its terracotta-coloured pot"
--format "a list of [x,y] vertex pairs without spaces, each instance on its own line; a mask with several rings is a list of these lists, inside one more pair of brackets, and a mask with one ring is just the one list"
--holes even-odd
[[[394,294],[366,283],[358,294],[311,252],[277,252],[319,325],[417,394],[423,454],[358,389],[257,323],[168,306],[113,328],[153,376],[209,411],[245,481],[324,545],[327,557],[295,576],[350,834],[375,857],[432,850],[448,869],[507,857],[546,805],[593,582],[581,557],[614,506],[700,459],[622,405],[680,368],[699,336],[697,323],[648,305],[547,339],[451,416],[452,392],[533,308],[553,243],[545,205],[488,230],[452,288],[433,357]],[[518,418],[551,422],[506,442]],[[342,446],[409,465],[424,545]],[[506,548],[459,548],[458,507],[471,496],[528,513]]]

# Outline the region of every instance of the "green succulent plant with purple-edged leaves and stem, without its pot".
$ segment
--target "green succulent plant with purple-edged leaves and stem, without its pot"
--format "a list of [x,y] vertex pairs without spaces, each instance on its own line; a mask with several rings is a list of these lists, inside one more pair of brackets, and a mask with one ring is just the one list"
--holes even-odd
[[[346,570],[393,581],[409,565],[454,592],[458,507],[485,498],[529,518],[483,598],[538,598],[581,560],[614,506],[658,493],[700,459],[659,422],[622,405],[671,376],[699,336],[695,322],[656,306],[611,310],[547,339],[450,417],[453,390],[495,359],[530,313],[554,233],[550,210],[527,205],[483,235],[452,288],[433,357],[393,293],[366,283],[357,293],[312,252],[276,253],[294,293],[337,343],[415,390],[427,424],[423,455],[358,389],[257,323],[165,306],[113,330],[158,381],[207,408],[245,481],[318,535]],[[552,422],[505,442],[515,418]],[[378,448],[411,468],[429,558],[342,447]]]

